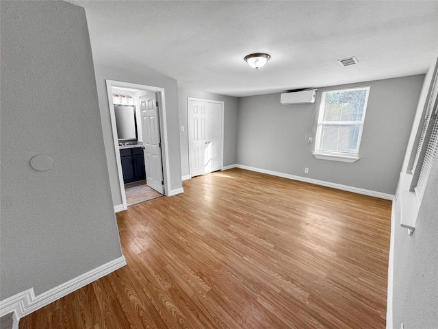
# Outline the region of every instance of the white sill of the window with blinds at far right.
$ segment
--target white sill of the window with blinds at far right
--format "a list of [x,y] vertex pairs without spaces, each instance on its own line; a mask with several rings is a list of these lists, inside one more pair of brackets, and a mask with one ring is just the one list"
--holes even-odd
[[415,192],[409,191],[412,175],[400,173],[400,187],[396,193],[396,217],[400,217],[400,226],[408,228],[410,233],[415,230],[420,201]]

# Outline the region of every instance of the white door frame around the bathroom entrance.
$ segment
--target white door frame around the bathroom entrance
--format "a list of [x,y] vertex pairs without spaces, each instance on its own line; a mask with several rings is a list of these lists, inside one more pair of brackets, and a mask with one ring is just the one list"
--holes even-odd
[[167,121],[166,121],[166,97],[164,94],[164,88],[156,86],[146,86],[144,84],[133,84],[131,82],[121,82],[116,80],[105,80],[107,86],[107,98],[108,107],[110,108],[110,119],[112,128],[112,138],[114,152],[116,154],[116,165],[118,173],[118,184],[120,189],[120,195],[122,196],[123,210],[126,210],[126,193],[125,184],[123,183],[122,161],[120,159],[120,149],[118,147],[118,136],[116,127],[116,114],[114,113],[114,103],[112,102],[112,88],[123,87],[133,88],[139,90],[149,91],[157,95],[157,101],[159,103],[158,116],[159,116],[159,135],[162,140],[162,164],[163,164],[163,180],[164,180],[164,195],[168,196],[170,193],[170,168],[168,163],[168,134],[167,134]]

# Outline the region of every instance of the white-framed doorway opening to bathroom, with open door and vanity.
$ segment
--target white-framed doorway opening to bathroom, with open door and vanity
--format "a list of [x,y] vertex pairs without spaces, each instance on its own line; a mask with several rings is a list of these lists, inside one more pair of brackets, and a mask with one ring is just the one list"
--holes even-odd
[[[106,80],[114,151],[123,209],[149,201],[168,190],[166,104],[164,88]],[[130,139],[120,138],[114,110],[118,103],[133,108]],[[124,109],[125,110],[125,109]],[[132,127],[133,126],[133,127]]]

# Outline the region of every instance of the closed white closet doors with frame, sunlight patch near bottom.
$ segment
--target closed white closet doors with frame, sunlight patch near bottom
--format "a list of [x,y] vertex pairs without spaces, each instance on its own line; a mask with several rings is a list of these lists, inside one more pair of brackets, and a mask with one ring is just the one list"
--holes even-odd
[[223,102],[188,100],[192,177],[221,169]]

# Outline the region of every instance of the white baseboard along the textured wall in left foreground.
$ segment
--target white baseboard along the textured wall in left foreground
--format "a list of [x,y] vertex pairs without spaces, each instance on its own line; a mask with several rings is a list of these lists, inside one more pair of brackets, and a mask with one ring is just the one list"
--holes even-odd
[[51,302],[55,302],[55,300],[59,300],[79,288],[85,287],[87,284],[90,284],[125,265],[125,256],[121,256],[38,296],[35,295],[34,288],[17,293],[16,295],[0,302],[0,317],[13,312],[15,319],[21,319],[39,308],[42,308]]

